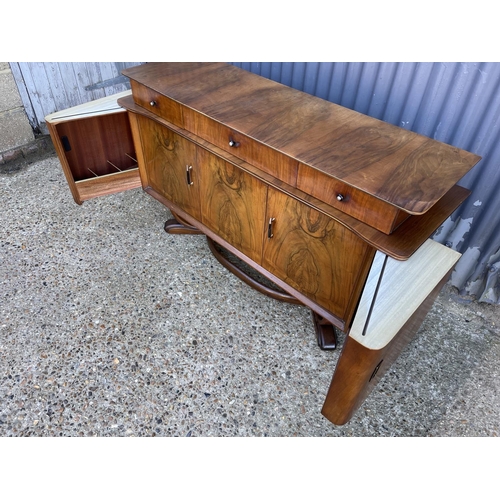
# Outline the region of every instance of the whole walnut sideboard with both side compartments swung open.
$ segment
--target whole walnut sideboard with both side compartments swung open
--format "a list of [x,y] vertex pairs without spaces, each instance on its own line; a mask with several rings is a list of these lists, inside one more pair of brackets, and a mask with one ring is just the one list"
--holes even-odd
[[47,117],[75,201],[142,185],[166,231],[205,234],[247,283],[309,307],[320,347],[344,332],[322,414],[346,423],[458,261],[430,237],[480,157],[229,64],[123,74],[131,91]]

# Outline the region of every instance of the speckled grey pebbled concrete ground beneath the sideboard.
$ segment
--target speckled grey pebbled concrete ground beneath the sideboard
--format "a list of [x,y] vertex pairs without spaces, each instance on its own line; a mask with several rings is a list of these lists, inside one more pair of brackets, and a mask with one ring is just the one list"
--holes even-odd
[[320,410],[339,351],[317,347],[309,310],[166,234],[142,190],[78,206],[49,154],[0,172],[0,200],[0,436],[499,434],[494,306],[446,288],[336,427]]

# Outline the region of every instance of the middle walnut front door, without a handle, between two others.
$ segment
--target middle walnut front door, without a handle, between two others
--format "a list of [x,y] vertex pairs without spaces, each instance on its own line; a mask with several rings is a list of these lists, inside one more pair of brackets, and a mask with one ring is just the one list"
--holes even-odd
[[260,264],[267,186],[235,165],[199,148],[202,222]]

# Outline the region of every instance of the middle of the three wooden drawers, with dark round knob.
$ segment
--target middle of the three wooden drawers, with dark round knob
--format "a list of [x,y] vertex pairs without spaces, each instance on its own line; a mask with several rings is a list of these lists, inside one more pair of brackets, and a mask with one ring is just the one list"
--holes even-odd
[[206,115],[189,108],[184,108],[183,112],[186,130],[290,186],[296,186],[297,160],[236,132]]

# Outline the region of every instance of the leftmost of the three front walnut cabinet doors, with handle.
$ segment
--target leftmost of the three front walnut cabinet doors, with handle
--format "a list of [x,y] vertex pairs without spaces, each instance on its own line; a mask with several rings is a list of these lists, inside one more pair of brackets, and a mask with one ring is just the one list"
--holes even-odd
[[200,169],[197,146],[164,125],[138,116],[147,183],[200,220]]

